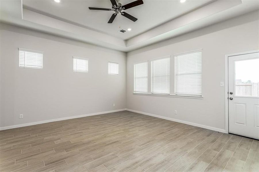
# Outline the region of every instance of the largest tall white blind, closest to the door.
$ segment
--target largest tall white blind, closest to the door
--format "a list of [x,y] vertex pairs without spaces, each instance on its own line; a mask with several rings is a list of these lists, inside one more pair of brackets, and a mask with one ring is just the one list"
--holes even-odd
[[202,50],[174,55],[175,94],[202,96]]

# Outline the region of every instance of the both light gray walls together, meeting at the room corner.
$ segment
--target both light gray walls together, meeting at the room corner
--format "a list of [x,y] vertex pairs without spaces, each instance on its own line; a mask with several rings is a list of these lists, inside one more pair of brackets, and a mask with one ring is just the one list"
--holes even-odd
[[[122,52],[1,24],[0,126],[128,108],[225,129],[225,54],[259,49],[258,26],[258,12],[250,13],[129,52],[126,59]],[[19,68],[18,47],[43,51],[43,69]],[[203,99],[133,95],[133,63],[200,48]],[[73,72],[72,56],[89,58],[89,72]],[[108,61],[119,62],[119,75],[108,75]]]

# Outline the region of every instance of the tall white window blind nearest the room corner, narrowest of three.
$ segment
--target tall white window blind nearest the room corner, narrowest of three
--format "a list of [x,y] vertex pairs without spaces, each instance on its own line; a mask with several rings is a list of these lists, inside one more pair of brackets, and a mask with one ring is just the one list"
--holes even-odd
[[134,64],[134,92],[147,93],[147,62]]

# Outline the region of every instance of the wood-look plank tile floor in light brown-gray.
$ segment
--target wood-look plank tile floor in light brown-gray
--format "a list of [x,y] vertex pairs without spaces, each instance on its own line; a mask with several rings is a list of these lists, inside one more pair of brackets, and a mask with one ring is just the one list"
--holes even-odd
[[0,171],[259,171],[259,141],[122,111],[0,132]]

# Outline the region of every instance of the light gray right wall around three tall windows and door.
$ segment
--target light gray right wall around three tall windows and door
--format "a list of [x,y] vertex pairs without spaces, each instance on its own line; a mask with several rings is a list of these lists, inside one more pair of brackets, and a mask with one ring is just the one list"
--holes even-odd
[[[127,108],[225,129],[225,54],[259,49],[258,11],[172,38],[127,54]],[[203,99],[133,95],[133,64],[202,48]],[[174,77],[171,77],[174,92]],[[177,110],[178,114],[174,114]]]

